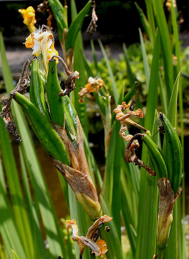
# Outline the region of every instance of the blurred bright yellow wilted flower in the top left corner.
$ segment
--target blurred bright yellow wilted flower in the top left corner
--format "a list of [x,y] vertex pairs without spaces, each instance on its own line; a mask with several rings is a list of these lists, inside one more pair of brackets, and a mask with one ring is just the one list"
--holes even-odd
[[35,10],[32,6],[29,6],[27,9],[18,10],[23,15],[23,23],[27,25],[30,32],[33,32],[36,28],[34,24],[35,20]]

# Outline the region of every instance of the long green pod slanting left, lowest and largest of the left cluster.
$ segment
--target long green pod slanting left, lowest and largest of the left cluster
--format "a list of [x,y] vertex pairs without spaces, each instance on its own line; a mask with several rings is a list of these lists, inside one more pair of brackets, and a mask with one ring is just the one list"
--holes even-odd
[[23,109],[47,154],[70,166],[67,149],[49,119],[22,94],[15,93],[13,98]]

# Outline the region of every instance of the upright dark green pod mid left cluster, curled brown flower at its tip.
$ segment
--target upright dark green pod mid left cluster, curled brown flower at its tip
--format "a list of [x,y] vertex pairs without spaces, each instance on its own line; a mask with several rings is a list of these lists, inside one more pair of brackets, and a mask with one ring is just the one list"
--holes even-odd
[[56,60],[51,59],[48,67],[47,77],[47,99],[51,113],[52,121],[64,126],[64,104],[62,97],[59,96],[61,91],[59,78],[57,74]]

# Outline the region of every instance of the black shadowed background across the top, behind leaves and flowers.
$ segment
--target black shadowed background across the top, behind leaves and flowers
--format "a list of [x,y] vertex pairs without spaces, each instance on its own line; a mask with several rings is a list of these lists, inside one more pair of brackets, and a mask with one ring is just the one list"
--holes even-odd
[[[0,7],[2,10],[0,16],[0,30],[5,37],[11,37],[13,35],[28,35],[27,26],[23,24],[22,15],[18,12],[18,9],[26,9],[28,6],[33,6],[37,10],[37,5],[41,1],[0,1]],[[61,1],[64,4],[64,1]],[[106,35],[105,39],[109,42],[126,42],[132,44],[139,41],[138,27],[142,27],[140,16],[134,5],[135,1],[96,1],[96,13],[98,16],[97,31],[101,35]],[[78,12],[87,3],[86,1],[77,1]],[[144,0],[138,0],[138,5],[146,13]],[[68,5],[68,17],[70,22],[70,1],[67,1]],[[189,29],[189,1],[179,0],[177,1],[178,10],[181,13],[184,22],[180,26],[180,31]],[[166,9],[166,7],[165,7]],[[4,15],[3,15],[4,14]],[[46,24],[48,17],[46,13],[38,13],[36,11],[37,25]],[[82,30],[85,31],[90,23],[91,16],[88,16],[84,20]],[[52,20],[53,30],[56,31],[55,20]]]

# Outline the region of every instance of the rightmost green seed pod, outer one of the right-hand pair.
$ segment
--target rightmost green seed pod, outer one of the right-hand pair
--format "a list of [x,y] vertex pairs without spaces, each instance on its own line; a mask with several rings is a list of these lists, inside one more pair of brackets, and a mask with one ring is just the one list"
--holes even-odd
[[162,121],[165,136],[166,136],[166,159],[170,170],[170,183],[173,192],[176,194],[182,179],[182,147],[180,139],[165,114],[160,113],[160,119]]

